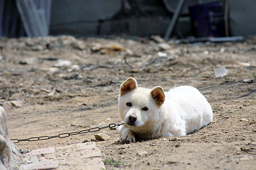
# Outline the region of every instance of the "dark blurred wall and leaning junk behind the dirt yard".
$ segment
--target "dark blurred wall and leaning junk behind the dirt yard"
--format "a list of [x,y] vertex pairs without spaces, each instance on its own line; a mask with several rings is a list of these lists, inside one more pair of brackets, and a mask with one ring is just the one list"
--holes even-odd
[[256,34],[255,0],[0,0],[0,36]]

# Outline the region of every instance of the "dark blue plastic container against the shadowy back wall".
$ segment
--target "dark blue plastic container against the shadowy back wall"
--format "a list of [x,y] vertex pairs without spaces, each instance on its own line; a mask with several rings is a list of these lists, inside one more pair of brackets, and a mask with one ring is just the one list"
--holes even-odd
[[225,37],[224,5],[220,2],[189,7],[195,37]]

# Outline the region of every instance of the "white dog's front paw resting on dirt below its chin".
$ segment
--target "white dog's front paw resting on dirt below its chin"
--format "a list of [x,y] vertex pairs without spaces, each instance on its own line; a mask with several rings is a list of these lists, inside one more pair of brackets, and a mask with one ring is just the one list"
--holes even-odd
[[135,143],[135,134],[127,126],[122,125],[119,128],[119,140],[121,143]]

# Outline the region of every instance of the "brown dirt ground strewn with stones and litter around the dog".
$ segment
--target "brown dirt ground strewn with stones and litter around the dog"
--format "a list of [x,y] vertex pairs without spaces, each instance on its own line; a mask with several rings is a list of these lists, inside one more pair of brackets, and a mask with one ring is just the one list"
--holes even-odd
[[[109,128],[16,145],[29,150],[66,146],[104,133],[111,139],[96,145],[104,160],[114,160],[106,165],[108,170],[256,169],[256,38],[238,43],[166,43],[137,37],[1,38],[0,105],[7,113],[10,138],[121,123],[119,86],[134,77],[142,87],[198,88],[212,106],[213,122],[186,136],[125,145],[118,142],[118,130]],[[60,67],[58,59],[71,65]],[[228,74],[216,78],[214,68],[223,66]]]

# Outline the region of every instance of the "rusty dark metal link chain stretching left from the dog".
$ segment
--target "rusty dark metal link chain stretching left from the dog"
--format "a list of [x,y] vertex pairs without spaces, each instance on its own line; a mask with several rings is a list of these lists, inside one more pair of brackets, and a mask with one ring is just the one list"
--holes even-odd
[[103,126],[103,127],[95,127],[95,128],[90,128],[90,129],[86,129],[86,130],[80,130],[79,132],[67,132],[67,133],[60,133],[59,135],[55,135],[55,136],[39,136],[39,137],[30,137],[29,139],[11,139],[11,140],[16,140],[16,142],[13,143],[19,143],[19,142],[23,142],[23,141],[37,141],[37,140],[47,140],[47,139],[52,139],[55,137],[59,137],[59,138],[64,138],[64,137],[69,137],[72,135],[78,135],[78,134],[82,134],[82,133],[92,133],[92,132],[98,132],[101,129],[104,128],[115,128],[116,126],[120,126],[120,125],[124,125],[123,123],[110,123],[108,126]]

